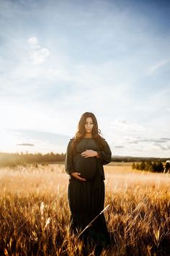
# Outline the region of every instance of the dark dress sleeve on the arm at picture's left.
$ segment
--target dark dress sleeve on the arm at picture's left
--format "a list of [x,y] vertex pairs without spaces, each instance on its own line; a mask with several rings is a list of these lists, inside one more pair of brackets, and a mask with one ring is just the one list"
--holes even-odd
[[66,159],[65,159],[65,170],[67,174],[71,174],[73,170],[73,149],[72,149],[72,140],[68,142],[66,150]]

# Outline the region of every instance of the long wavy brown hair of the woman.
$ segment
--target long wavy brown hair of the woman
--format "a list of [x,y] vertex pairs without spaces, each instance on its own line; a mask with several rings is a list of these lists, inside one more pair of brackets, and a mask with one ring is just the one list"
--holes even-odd
[[75,150],[76,145],[86,134],[85,124],[86,124],[86,119],[88,117],[91,117],[91,119],[93,120],[93,124],[94,124],[94,127],[92,129],[92,138],[97,142],[100,150],[102,150],[102,148],[104,146],[104,138],[102,137],[101,130],[98,128],[96,116],[94,116],[94,114],[91,112],[85,112],[81,116],[76,135],[75,135],[75,137],[73,137],[73,150]]

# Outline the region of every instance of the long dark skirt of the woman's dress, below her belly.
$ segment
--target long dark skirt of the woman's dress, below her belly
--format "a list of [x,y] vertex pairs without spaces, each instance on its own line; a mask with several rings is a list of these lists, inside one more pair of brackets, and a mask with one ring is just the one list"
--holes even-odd
[[[68,184],[68,204],[71,210],[71,232],[80,234],[104,208],[104,181],[101,181],[99,189],[94,190],[92,181],[71,179]],[[109,232],[103,213],[81,236],[85,242],[89,237],[97,244],[109,245]]]

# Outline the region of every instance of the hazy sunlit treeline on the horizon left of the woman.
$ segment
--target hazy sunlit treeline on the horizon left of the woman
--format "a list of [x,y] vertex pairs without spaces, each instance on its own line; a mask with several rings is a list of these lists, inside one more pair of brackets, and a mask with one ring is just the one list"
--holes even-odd
[[65,160],[66,154],[47,153],[0,153],[0,167],[14,167],[18,165],[26,165],[27,163],[55,163]]

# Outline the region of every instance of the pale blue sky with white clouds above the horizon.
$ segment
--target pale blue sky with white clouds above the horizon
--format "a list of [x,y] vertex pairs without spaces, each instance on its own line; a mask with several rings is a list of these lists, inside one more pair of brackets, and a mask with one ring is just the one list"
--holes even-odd
[[65,153],[91,111],[112,155],[170,157],[169,14],[169,1],[0,0],[0,151]]

